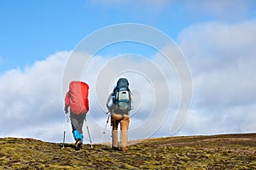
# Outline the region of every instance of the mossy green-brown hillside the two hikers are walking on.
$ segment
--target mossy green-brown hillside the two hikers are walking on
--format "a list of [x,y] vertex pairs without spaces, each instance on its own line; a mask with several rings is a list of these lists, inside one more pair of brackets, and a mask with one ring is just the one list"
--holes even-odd
[[256,169],[256,133],[145,139],[126,152],[93,146],[0,139],[0,169]]

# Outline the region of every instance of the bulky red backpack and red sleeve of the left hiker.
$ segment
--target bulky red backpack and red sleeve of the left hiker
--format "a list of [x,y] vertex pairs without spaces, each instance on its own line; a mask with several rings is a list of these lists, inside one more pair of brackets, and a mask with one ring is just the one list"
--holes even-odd
[[65,96],[65,111],[70,107],[73,114],[85,114],[89,111],[88,90],[85,82],[70,82]]

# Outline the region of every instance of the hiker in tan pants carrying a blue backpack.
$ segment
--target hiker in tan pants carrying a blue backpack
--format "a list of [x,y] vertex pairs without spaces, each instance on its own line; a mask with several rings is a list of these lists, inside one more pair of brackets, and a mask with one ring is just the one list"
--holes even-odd
[[111,114],[112,149],[119,150],[118,127],[120,124],[120,149],[125,151],[128,143],[129,111],[133,109],[129,82],[126,78],[119,78],[106,105]]

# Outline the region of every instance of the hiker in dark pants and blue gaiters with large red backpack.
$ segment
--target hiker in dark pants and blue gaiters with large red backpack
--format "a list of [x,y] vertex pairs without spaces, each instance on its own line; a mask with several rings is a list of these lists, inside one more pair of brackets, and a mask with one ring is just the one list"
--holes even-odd
[[65,97],[64,111],[70,110],[73,138],[75,149],[80,150],[83,144],[83,124],[86,113],[89,111],[89,86],[85,82],[73,81],[69,83],[69,90]]

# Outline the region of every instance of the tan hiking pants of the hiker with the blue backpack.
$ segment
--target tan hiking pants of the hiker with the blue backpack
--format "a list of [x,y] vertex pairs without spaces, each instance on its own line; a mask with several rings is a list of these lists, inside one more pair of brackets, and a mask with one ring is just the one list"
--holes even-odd
[[130,123],[129,115],[111,114],[112,123],[112,147],[119,147],[118,126],[120,123],[120,146],[126,147],[128,142],[128,127]]

